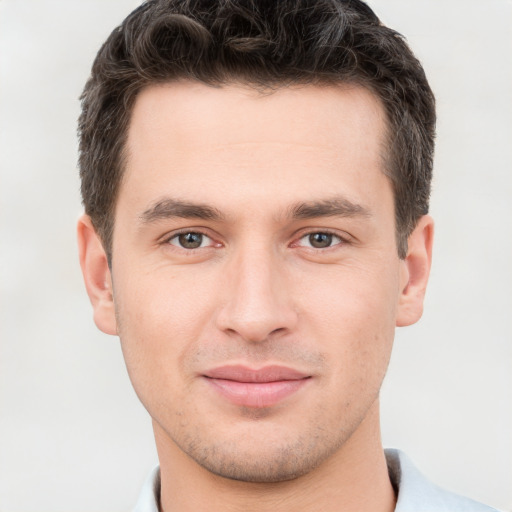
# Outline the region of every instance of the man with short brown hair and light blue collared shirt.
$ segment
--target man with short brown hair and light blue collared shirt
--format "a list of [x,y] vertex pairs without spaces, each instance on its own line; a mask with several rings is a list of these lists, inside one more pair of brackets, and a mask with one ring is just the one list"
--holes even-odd
[[360,1],[150,1],[83,93],[80,261],[160,468],[137,510],[483,511],[382,449],[434,98]]

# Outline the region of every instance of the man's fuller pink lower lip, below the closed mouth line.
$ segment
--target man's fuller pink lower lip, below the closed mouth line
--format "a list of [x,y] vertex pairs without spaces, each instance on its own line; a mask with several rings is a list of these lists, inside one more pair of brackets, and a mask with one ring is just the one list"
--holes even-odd
[[274,382],[238,382],[225,379],[206,379],[216,391],[235,405],[271,407],[301,389],[309,378]]

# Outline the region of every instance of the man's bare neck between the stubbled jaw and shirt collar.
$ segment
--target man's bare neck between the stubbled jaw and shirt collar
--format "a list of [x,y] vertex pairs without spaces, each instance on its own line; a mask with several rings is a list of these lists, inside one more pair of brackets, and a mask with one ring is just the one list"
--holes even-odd
[[392,512],[395,507],[378,402],[335,454],[286,482],[241,482],[214,475],[183,453],[156,423],[154,430],[162,512]]

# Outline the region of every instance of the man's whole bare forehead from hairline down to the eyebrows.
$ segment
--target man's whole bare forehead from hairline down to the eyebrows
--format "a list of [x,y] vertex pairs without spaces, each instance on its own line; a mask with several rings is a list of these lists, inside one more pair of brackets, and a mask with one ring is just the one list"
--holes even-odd
[[304,201],[340,178],[350,196],[382,175],[385,131],[380,101],[358,86],[150,86],[134,105],[120,196]]

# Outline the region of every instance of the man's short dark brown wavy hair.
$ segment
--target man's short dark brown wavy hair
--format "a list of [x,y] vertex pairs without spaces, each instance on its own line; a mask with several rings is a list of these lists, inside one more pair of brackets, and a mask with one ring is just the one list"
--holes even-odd
[[179,79],[371,90],[388,117],[385,172],[405,257],[410,233],[428,212],[435,102],[403,37],[360,0],[148,0],[103,44],[81,96],[82,199],[109,259],[135,99],[150,84]]

